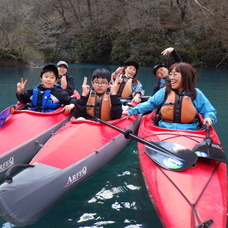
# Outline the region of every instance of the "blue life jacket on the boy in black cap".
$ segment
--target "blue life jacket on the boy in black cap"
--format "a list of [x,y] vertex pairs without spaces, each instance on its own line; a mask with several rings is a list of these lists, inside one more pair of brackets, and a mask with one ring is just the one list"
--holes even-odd
[[51,89],[46,89],[42,96],[42,105],[38,106],[39,89],[34,88],[32,91],[32,100],[30,109],[39,112],[51,112],[60,107],[58,103],[51,102]]

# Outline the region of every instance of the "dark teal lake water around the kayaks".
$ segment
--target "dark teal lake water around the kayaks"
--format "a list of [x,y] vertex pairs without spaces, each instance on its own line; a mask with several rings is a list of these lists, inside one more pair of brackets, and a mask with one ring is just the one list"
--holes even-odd
[[[89,77],[97,67],[114,71],[117,66],[70,65],[76,89],[81,92],[83,77]],[[26,88],[39,82],[41,68],[0,69],[0,110],[16,102],[16,83],[28,79]],[[198,69],[199,88],[217,109],[215,125],[224,150],[228,151],[228,72]],[[138,79],[144,85],[145,95],[152,92],[155,78],[151,67],[141,67]],[[132,142],[118,157],[76,189],[67,193],[31,228],[161,228],[153,209],[137,159],[136,142]],[[34,205],[35,207],[35,205]],[[0,218],[0,228],[17,227]]]

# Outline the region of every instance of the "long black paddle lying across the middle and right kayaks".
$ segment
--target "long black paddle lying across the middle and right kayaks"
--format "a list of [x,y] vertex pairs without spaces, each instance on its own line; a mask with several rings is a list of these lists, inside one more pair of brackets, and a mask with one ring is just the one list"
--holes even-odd
[[97,117],[90,116],[90,118],[105,124],[124,134],[125,138],[134,139],[140,143],[146,145],[147,155],[158,165],[165,169],[172,171],[182,171],[191,167],[197,161],[197,155],[191,150],[171,142],[149,142],[143,138],[134,135],[129,130],[123,130],[117,126],[114,126],[104,120]]

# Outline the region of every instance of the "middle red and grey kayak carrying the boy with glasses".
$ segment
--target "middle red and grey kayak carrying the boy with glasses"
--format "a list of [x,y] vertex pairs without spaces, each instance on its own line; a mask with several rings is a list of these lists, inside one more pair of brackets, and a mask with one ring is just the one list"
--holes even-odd
[[[140,119],[124,118],[112,124],[136,132]],[[68,122],[33,158],[30,164],[34,167],[15,175],[12,183],[0,186],[1,216],[19,226],[34,223],[61,196],[104,167],[129,142],[123,134],[94,121]]]

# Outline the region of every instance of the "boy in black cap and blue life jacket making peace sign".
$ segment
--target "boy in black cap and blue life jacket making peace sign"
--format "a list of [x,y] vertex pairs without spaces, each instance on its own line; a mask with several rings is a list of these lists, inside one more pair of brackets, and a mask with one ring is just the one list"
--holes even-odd
[[38,86],[25,90],[28,80],[21,78],[17,83],[16,96],[19,102],[28,104],[28,109],[39,112],[51,112],[65,105],[65,113],[69,113],[75,107],[75,98],[72,98],[65,90],[56,85],[58,70],[55,65],[46,65],[41,73]]

